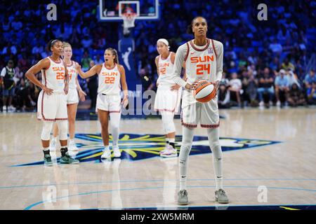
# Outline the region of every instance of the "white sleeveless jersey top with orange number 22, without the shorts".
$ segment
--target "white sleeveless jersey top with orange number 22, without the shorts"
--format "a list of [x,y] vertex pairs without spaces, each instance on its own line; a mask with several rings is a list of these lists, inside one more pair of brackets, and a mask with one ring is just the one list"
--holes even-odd
[[121,92],[121,73],[117,64],[115,64],[113,69],[109,69],[105,66],[105,63],[102,65],[102,69],[99,73],[99,86],[98,93],[103,94],[120,94]]

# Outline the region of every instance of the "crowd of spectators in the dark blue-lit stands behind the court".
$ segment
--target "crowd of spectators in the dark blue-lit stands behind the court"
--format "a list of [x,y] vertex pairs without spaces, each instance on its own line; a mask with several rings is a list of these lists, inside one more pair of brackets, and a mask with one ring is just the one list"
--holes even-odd
[[[103,62],[98,50],[117,48],[120,25],[98,21],[98,2],[1,3],[0,110],[36,109],[40,90],[25,80],[25,72],[49,55],[45,48],[49,40],[70,42],[74,60],[85,70],[93,63]],[[257,19],[256,1],[159,2],[161,18],[137,20],[131,33],[136,43],[136,78],[142,80],[145,89],[156,87],[157,39],[168,39],[171,50],[176,52],[179,45],[192,39],[186,34],[192,18],[203,15],[208,21],[209,38],[224,45],[224,72],[218,90],[220,107],[316,104],[315,64],[311,69],[307,67],[315,52],[315,1],[269,1],[266,21]],[[48,3],[57,5],[57,21],[47,20]],[[96,81],[80,80],[92,98],[96,95]]]

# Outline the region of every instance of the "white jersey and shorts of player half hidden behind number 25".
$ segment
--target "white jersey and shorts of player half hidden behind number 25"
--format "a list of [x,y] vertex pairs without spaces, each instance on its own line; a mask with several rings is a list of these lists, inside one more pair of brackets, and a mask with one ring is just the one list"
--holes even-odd
[[69,90],[67,94],[67,104],[78,104],[79,95],[77,91],[77,69],[75,68],[76,62],[72,61],[72,64],[67,64],[67,70],[69,74]]

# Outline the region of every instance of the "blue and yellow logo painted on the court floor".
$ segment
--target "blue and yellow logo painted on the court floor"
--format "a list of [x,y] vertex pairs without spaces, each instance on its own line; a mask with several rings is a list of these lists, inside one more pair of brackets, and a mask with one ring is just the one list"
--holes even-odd
[[[80,162],[102,162],[100,156],[103,154],[103,141],[101,134],[76,134],[75,137],[81,140],[77,143],[79,153],[70,155]],[[164,149],[164,136],[157,134],[121,134],[119,139],[119,148],[121,150],[121,159],[126,160],[145,160],[154,157],[159,157],[159,152]],[[112,137],[110,136],[110,140]],[[176,136],[176,148],[180,151],[182,137]],[[220,138],[222,151],[235,151],[240,149],[256,148],[258,146],[268,146],[279,144],[279,141],[258,140],[258,139],[235,139],[235,138]],[[201,155],[211,153],[209,148],[209,139],[207,137],[195,136],[192,142],[192,150],[190,155]],[[55,157],[54,157],[55,155]],[[60,155],[58,152],[57,155]],[[60,158],[56,157],[56,153],[52,153],[54,163],[59,163]],[[113,155],[112,155],[113,157]],[[29,162],[20,165],[12,165],[11,167],[43,165],[43,161]]]

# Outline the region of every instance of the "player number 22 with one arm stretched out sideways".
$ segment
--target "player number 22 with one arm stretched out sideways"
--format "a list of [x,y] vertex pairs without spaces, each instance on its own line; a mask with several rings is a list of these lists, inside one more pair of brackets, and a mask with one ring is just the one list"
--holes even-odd
[[[119,120],[121,119],[121,104],[124,107],[128,104],[128,90],[125,78],[124,66],[119,64],[119,57],[117,50],[107,48],[104,53],[105,63],[96,64],[90,70],[85,73],[81,70],[81,67],[77,66],[77,71],[81,78],[88,78],[98,74],[98,97],[96,103],[96,110],[101,123],[101,135],[104,144],[104,151],[101,158],[111,158],[111,151],[109,148],[109,132],[108,123],[110,116],[111,130],[112,130],[112,142],[114,157],[120,157],[119,151]],[[120,85],[121,83],[121,85]],[[121,102],[121,87],[124,92],[124,98]]]

